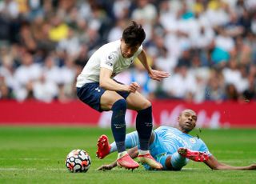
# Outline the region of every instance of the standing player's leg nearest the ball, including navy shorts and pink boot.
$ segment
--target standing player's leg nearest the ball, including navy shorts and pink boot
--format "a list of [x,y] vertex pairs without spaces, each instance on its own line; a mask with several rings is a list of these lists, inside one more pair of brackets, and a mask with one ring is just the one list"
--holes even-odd
[[[117,92],[105,90],[98,82],[90,82],[77,89],[78,98],[88,106],[102,112],[113,110],[111,128],[114,140],[118,142],[118,164],[128,169],[135,169],[139,165],[127,154],[124,140],[126,138],[126,100]],[[126,94],[127,96],[128,94]],[[126,97],[125,97],[126,98]],[[98,142],[98,146],[101,142]],[[127,156],[128,155],[128,156]]]

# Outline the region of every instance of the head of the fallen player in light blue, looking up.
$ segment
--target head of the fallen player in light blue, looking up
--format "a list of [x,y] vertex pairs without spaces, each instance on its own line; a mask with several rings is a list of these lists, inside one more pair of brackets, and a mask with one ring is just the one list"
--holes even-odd
[[197,115],[193,110],[184,110],[178,117],[178,124],[182,131],[190,132],[194,129],[197,122]]

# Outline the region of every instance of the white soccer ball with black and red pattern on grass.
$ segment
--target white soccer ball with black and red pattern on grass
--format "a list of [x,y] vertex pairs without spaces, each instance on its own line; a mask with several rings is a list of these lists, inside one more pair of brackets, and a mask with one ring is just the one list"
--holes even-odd
[[66,168],[73,173],[85,173],[89,170],[90,164],[90,156],[85,150],[72,150],[66,156]]

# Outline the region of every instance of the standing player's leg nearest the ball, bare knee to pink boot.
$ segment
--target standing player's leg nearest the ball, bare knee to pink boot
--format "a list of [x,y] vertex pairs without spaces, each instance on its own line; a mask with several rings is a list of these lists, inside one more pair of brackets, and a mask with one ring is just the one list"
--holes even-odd
[[[106,90],[102,94],[101,100],[102,110],[112,110],[111,117],[111,130],[114,136],[114,141],[118,150],[118,165],[126,167],[128,169],[134,169],[138,167],[138,163],[134,162],[126,152],[125,139],[126,139],[126,108],[127,103],[122,96],[115,91]],[[127,156],[128,155],[128,156]]]

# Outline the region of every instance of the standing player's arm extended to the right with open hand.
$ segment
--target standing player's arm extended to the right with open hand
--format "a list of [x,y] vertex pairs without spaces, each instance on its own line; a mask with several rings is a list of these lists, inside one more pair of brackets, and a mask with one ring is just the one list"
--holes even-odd
[[161,81],[163,78],[168,78],[170,76],[170,74],[165,71],[158,71],[158,70],[151,69],[151,67],[146,59],[146,51],[145,50],[142,50],[142,52],[140,54],[138,54],[138,59],[140,62],[142,62],[142,65],[147,70],[150,78],[157,80],[157,81]]

